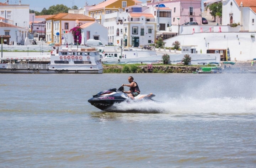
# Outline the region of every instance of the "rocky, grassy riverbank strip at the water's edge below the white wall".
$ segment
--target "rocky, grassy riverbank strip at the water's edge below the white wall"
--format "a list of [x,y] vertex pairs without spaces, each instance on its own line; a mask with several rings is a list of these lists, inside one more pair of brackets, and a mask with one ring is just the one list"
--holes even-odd
[[125,65],[105,65],[103,73],[193,73],[200,66],[186,65],[144,65],[144,64],[125,64]]

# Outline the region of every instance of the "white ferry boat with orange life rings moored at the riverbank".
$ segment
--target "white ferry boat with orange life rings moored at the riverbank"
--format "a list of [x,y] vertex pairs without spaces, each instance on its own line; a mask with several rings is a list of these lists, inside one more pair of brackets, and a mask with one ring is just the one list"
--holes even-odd
[[53,46],[50,57],[1,59],[0,73],[102,74],[103,66],[96,48]]

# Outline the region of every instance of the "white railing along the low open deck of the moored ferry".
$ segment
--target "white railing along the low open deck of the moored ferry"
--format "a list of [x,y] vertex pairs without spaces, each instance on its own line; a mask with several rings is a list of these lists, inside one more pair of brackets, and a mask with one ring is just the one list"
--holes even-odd
[[7,69],[47,69],[50,64],[7,64]]

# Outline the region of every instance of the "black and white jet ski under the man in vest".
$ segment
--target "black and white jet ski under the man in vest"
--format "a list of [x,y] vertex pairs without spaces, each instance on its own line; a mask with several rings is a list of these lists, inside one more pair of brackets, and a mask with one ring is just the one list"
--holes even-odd
[[134,97],[134,100],[129,98],[126,93],[124,93],[124,87],[108,89],[105,91],[101,91],[92,96],[88,100],[91,105],[103,111],[113,111],[111,108],[114,104],[122,103],[122,102],[131,102],[131,101],[155,101],[152,99],[155,95],[150,94],[139,94]]

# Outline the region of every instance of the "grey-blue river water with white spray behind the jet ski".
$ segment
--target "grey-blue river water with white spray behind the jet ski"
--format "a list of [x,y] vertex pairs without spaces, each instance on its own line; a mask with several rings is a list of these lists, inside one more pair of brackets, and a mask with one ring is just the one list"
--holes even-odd
[[[87,102],[130,75],[164,103],[111,113]],[[256,166],[254,74],[0,77],[0,167]]]

